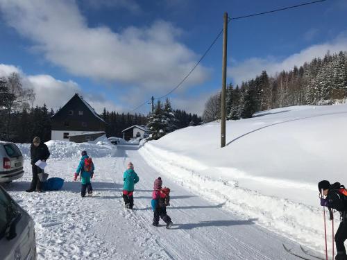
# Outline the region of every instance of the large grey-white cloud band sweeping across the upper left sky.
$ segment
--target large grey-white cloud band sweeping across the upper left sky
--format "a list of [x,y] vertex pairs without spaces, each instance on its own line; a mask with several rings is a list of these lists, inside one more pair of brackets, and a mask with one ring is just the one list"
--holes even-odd
[[[165,92],[198,59],[178,42],[180,30],[165,21],[115,33],[108,27],[88,27],[74,1],[0,0],[0,8],[7,23],[30,39],[46,60],[76,76]],[[209,69],[198,66],[186,85],[202,83],[208,76]]]

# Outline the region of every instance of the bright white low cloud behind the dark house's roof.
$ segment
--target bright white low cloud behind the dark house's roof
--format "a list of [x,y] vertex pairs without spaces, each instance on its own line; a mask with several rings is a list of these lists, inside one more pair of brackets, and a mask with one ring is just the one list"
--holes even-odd
[[112,101],[108,100],[105,95],[90,95],[83,92],[83,89],[72,80],[57,80],[49,75],[26,76],[21,69],[13,65],[0,64],[0,76],[9,76],[12,72],[19,73],[24,87],[32,88],[34,90],[34,106],[42,106],[46,103],[47,107],[53,108],[53,110],[56,111],[59,107],[65,105],[65,103],[67,103],[75,93],[78,93],[85,98],[85,101],[94,107],[96,112],[101,113],[103,107],[106,107],[109,111],[119,111],[122,109],[121,107],[116,106]]

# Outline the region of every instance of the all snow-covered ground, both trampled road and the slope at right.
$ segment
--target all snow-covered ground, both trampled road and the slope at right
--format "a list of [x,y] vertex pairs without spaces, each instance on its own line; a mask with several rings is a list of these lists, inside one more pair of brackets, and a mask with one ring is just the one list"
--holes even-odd
[[[24,177],[4,187],[35,220],[38,259],[295,259],[282,243],[323,252],[316,184],[347,184],[346,116],[347,105],[262,112],[228,121],[225,148],[219,148],[219,123],[141,146],[49,141],[46,172],[65,185],[44,193],[25,192],[30,145],[19,144]],[[81,198],[81,184],[72,181],[81,150],[96,167],[93,198]],[[129,161],[140,178],[133,211],[121,198]],[[171,188],[169,230],[151,225],[159,175]],[[337,227],[338,214],[335,221]]]

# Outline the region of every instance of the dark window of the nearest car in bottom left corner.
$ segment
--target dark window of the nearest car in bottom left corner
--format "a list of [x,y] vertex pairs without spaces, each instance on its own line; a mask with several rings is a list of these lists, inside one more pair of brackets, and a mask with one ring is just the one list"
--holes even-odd
[[13,205],[10,197],[0,189],[0,239],[3,238],[6,232],[6,225],[10,223],[13,216],[17,214],[15,205]]

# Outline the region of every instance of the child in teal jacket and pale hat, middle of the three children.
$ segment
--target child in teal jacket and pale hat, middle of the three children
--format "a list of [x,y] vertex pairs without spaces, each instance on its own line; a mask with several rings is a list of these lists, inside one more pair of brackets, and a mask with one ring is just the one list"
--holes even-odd
[[134,187],[137,182],[139,182],[139,176],[134,171],[134,164],[132,162],[128,163],[126,171],[123,175],[124,185],[123,185],[123,200],[126,208],[133,209],[134,207]]

